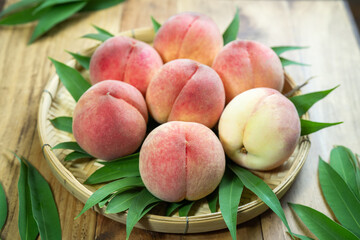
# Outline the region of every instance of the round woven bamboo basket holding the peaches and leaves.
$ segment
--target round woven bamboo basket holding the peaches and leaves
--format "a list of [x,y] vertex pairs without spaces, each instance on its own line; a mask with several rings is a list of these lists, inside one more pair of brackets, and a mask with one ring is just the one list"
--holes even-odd
[[[150,43],[154,38],[152,28],[135,29],[122,32],[119,35],[133,37]],[[81,51],[83,55],[91,56],[97,46]],[[89,74],[75,60],[67,63],[79,70],[85,78]],[[293,80],[285,74],[284,92],[290,91],[294,86]],[[297,92],[296,94],[299,94]],[[60,116],[72,116],[75,101],[61,84],[55,74],[47,83],[42,94],[38,112],[38,131],[42,144],[42,150],[53,174],[60,183],[77,199],[85,203],[90,195],[101,185],[85,185],[85,180],[101,165],[96,160],[76,160],[64,162],[64,157],[70,150],[51,150],[52,146],[60,142],[74,141],[72,134],[60,131],[52,126],[50,119]],[[305,118],[308,118],[306,115]],[[301,137],[293,155],[282,166],[272,171],[258,172],[254,174],[262,178],[281,198],[290,188],[295,177],[302,168],[310,148],[307,136]],[[238,224],[248,221],[267,210],[268,207],[250,191],[245,190],[238,208]],[[126,212],[120,214],[105,214],[103,209],[94,207],[93,210],[115,221],[125,223]],[[162,215],[161,207],[143,217],[135,227],[157,232],[167,233],[199,233],[226,228],[220,212],[211,213],[206,201],[195,204],[190,211],[189,217],[179,217],[178,213],[170,217]]]

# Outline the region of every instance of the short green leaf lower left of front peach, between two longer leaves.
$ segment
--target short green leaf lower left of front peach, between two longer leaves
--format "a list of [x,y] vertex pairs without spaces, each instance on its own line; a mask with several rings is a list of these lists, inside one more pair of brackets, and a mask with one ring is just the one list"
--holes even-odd
[[105,213],[119,213],[129,209],[132,201],[138,194],[138,189],[130,189],[128,191],[117,194],[110,200],[106,207]]

